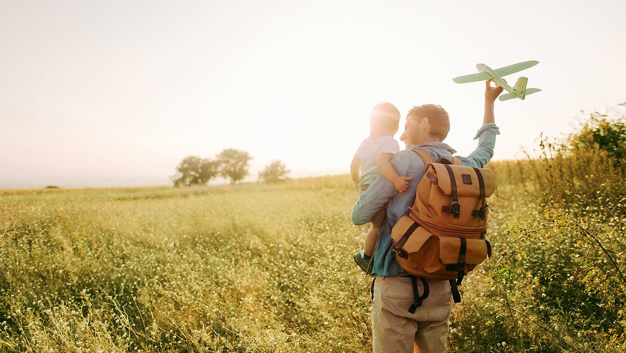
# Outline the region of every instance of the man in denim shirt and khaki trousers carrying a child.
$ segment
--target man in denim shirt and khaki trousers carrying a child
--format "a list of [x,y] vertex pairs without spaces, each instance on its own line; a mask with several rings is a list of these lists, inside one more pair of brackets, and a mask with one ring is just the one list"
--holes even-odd
[[[483,126],[476,133],[478,147],[469,156],[459,158],[463,165],[483,168],[493,156],[496,135],[493,103],[502,92],[500,86],[491,87],[486,81],[485,115]],[[442,141],[448,135],[450,121],[448,113],[435,105],[414,106],[406,116],[404,133],[400,137],[406,150],[400,151],[391,160],[398,175],[411,177],[409,190],[417,190],[424,176],[424,161],[411,150],[424,150],[433,158],[451,159],[455,153]],[[448,319],[452,310],[452,291],[447,280],[429,280],[430,294],[414,314],[407,308],[413,304],[413,285],[408,272],[401,269],[392,250],[391,228],[399,218],[408,215],[409,207],[415,202],[414,192],[398,193],[396,186],[380,176],[361,193],[359,202],[352,210],[352,223],[362,225],[372,220],[374,213],[387,204],[387,222],[378,236],[376,251],[372,257],[372,341],[374,353],[381,352],[444,352],[448,339]],[[418,281],[418,292],[423,293]]]

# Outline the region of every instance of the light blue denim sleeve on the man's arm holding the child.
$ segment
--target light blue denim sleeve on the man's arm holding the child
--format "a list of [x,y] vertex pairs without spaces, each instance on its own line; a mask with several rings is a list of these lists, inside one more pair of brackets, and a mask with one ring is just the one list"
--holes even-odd
[[[409,168],[409,157],[407,153],[398,153],[391,159],[398,175],[406,175]],[[367,190],[361,193],[359,201],[352,208],[350,219],[354,225],[362,225],[372,221],[374,214],[380,210],[385,203],[398,193],[394,183],[378,173],[376,181],[371,183]]]

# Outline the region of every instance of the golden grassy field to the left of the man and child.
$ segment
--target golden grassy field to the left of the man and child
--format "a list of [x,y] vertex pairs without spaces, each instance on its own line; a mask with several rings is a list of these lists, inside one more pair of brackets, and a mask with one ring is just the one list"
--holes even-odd
[[6,192],[1,348],[366,349],[350,185]]

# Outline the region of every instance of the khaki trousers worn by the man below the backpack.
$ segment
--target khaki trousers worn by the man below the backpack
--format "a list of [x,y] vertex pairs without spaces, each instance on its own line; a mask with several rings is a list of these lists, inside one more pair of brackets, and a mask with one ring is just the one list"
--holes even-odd
[[[429,280],[430,293],[415,314],[409,277],[376,276],[372,300],[374,353],[439,353],[446,351],[452,290],[447,280]],[[424,288],[418,280],[419,295]]]

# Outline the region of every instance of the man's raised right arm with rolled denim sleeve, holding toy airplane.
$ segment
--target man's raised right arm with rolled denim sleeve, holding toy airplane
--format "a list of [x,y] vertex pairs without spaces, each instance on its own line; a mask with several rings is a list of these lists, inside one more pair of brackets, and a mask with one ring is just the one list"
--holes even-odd
[[485,115],[483,115],[483,126],[478,129],[474,140],[478,138],[478,147],[466,157],[458,158],[463,161],[463,165],[484,168],[493,157],[493,148],[496,145],[496,135],[500,135],[500,129],[496,126],[493,115],[493,103],[502,93],[500,86],[491,87],[491,79],[486,81],[485,88]]

